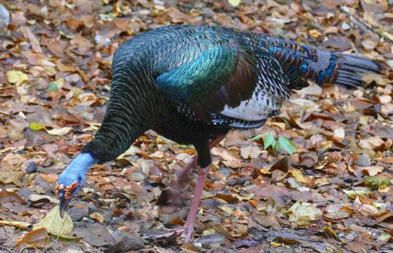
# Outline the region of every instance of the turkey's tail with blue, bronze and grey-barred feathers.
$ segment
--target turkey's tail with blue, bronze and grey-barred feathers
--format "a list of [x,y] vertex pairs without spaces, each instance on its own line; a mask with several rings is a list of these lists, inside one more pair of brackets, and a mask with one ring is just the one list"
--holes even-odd
[[262,37],[259,44],[269,48],[270,53],[281,63],[290,79],[290,89],[302,88],[307,79],[319,85],[363,86],[364,75],[381,74],[386,68],[376,60],[300,45],[276,37]]

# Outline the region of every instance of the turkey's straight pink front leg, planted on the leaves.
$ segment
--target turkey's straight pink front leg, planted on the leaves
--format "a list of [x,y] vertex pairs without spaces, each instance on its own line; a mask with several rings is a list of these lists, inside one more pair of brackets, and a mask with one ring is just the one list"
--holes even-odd
[[198,172],[198,179],[195,186],[193,200],[191,202],[191,209],[188,213],[186,223],[183,226],[183,233],[181,234],[181,237],[184,238],[185,242],[189,242],[191,240],[191,235],[193,235],[195,217],[198,212],[200,197],[202,197],[202,190],[205,187],[205,181],[207,179],[207,174],[209,174],[209,170],[210,165],[200,169]]

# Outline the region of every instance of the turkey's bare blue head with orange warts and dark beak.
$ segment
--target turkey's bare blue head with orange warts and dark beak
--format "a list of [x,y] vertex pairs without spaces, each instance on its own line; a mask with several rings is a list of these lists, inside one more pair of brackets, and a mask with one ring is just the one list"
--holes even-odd
[[60,216],[63,218],[65,209],[73,197],[82,189],[86,182],[86,171],[98,160],[89,153],[81,153],[65,168],[58,177],[56,195],[60,200]]

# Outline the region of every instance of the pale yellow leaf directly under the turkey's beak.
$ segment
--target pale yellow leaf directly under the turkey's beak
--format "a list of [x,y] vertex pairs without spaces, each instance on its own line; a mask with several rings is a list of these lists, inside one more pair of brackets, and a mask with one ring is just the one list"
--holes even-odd
[[68,214],[61,219],[57,205],[33,228],[46,228],[46,231],[52,235],[67,235],[72,231],[72,219]]

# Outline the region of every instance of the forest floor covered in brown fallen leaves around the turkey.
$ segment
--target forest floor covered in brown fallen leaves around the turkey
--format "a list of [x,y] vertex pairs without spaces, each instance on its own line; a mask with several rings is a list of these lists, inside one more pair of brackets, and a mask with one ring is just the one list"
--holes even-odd
[[[212,149],[191,244],[165,232],[190,202],[156,202],[195,150],[152,131],[89,171],[70,218],[53,209],[58,174],[103,119],[112,56],[126,39],[208,23],[393,67],[391,0],[0,4],[0,252],[393,252],[392,72],[356,90],[311,84],[262,129],[228,134]],[[297,150],[265,149],[266,134]]]

